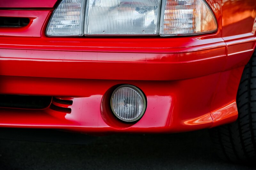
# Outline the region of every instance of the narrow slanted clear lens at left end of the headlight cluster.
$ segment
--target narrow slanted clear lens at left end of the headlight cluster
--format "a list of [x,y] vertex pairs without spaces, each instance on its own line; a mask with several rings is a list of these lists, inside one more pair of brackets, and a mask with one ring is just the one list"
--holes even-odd
[[47,36],[82,36],[85,0],[62,0],[53,12]]

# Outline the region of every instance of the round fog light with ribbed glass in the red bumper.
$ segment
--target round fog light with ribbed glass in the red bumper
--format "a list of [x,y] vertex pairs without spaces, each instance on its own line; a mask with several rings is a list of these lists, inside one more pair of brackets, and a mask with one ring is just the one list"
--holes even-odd
[[139,120],[146,110],[146,99],[135,86],[119,86],[112,94],[110,105],[115,116],[124,122]]

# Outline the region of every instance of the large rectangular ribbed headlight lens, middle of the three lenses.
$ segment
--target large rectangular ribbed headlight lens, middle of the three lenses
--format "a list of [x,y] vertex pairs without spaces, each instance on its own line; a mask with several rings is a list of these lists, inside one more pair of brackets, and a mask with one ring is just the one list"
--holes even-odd
[[86,36],[159,35],[161,0],[87,0]]

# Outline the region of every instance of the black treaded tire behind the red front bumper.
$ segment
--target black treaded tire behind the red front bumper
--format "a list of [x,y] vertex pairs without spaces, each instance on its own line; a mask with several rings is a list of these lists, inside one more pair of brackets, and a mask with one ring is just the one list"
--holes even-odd
[[236,122],[210,129],[218,155],[232,162],[256,161],[256,53],[245,66],[237,96]]

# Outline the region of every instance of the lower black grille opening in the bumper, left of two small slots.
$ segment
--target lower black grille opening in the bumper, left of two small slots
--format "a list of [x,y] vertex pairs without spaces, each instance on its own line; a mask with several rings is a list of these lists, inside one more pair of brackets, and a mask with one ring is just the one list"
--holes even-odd
[[0,107],[4,108],[45,109],[51,102],[51,96],[0,95]]

